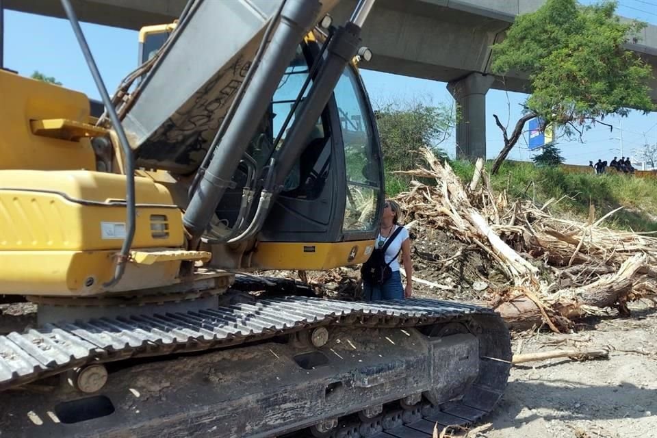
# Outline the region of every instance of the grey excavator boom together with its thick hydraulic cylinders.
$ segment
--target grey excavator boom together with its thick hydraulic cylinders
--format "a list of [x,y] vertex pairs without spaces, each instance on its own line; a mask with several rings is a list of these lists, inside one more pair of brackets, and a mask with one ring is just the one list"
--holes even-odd
[[[233,184],[235,170],[257,134],[258,121],[269,116],[270,102],[285,70],[297,60],[299,41],[335,3],[192,3],[131,95],[123,125],[137,165],[177,175],[195,174],[183,218],[192,246]],[[344,27],[331,27],[324,56],[314,60],[313,75],[307,77],[305,86],[312,81],[307,96],[302,99],[300,94],[292,105],[297,112],[294,122],[279,128],[289,128],[285,141],[270,162],[264,163],[268,165],[266,174],[263,166],[251,169],[263,179],[255,191],[257,207],[250,222],[237,235],[233,233],[230,242],[254,237],[263,227],[272,198],[305,150],[344,68],[357,55],[360,29],[373,3],[362,1],[352,21]],[[275,29],[274,23],[278,23]],[[222,44],[227,35],[231,38]],[[216,46],[199,51],[198,41],[208,42],[208,46],[216,42]],[[167,98],[163,101],[162,96]]]

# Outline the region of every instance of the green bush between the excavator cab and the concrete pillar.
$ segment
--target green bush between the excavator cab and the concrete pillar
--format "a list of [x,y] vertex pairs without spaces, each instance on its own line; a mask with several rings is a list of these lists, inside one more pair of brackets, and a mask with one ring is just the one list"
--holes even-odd
[[376,125],[383,149],[386,185],[388,192],[394,194],[404,188],[400,185],[405,185],[409,178],[392,172],[422,165],[422,157],[415,151],[426,146],[437,156],[447,157],[439,145],[451,135],[456,115],[450,105],[431,105],[420,99],[392,100],[377,106]]

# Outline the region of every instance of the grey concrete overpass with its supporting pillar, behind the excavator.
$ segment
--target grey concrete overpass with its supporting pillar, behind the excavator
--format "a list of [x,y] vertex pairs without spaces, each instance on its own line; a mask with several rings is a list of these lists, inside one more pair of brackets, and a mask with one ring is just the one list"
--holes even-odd
[[[219,0],[216,0],[219,1]],[[221,0],[229,1],[229,0]],[[5,8],[64,17],[59,0],[3,0]],[[73,0],[82,21],[138,29],[166,23],[186,0]],[[456,128],[457,154],[486,156],[486,93],[490,88],[529,92],[526,77],[490,75],[490,46],[504,38],[517,14],[537,10],[545,0],[377,0],[363,42],[374,52],[365,67],[448,83],[463,112]],[[356,0],[343,0],[333,12],[341,22]],[[657,78],[657,26],[643,29],[627,44],[652,65]],[[652,100],[657,103],[657,79]]]

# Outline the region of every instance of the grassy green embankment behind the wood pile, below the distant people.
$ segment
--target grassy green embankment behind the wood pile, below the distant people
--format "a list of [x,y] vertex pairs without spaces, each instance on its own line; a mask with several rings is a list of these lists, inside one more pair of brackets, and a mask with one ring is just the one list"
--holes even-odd
[[[491,162],[487,163],[487,167]],[[463,181],[472,179],[474,165],[452,162]],[[511,198],[532,199],[539,204],[550,198],[563,198],[551,210],[556,214],[586,220],[589,204],[595,205],[596,218],[624,207],[606,225],[634,231],[657,231],[657,181],[626,175],[595,175],[564,172],[558,167],[537,168],[532,163],[505,162],[491,179],[493,190],[506,189]]]

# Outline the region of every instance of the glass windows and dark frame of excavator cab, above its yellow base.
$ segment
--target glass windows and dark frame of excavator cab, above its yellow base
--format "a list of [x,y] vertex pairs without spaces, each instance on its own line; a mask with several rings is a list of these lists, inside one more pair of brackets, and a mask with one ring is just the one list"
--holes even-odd
[[[301,44],[272,99],[272,136],[281,130],[320,42]],[[292,114],[289,129],[294,122]],[[266,118],[267,119],[267,118]],[[262,241],[341,242],[371,238],[383,204],[381,153],[363,85],[345,69],[262,229]],[[281,139],[285,139],[285,131]]]

